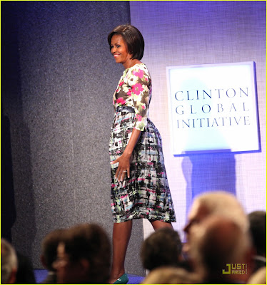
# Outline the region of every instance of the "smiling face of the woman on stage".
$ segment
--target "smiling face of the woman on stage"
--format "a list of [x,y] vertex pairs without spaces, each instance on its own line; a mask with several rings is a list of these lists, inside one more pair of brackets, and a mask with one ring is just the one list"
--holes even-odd
[[116,63],[121,63],[125,68],[128,67],[128,63],[131,60],[131,54],[128,52],[126,42],[121,35],[115,34],[111,38],[111,53],[114,56]]

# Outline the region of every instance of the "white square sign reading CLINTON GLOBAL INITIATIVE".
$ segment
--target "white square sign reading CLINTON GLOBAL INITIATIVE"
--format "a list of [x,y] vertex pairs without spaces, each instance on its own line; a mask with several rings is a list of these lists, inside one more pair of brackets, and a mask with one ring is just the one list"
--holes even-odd
[[259,150],[253,62],[166,69],[173,155]]

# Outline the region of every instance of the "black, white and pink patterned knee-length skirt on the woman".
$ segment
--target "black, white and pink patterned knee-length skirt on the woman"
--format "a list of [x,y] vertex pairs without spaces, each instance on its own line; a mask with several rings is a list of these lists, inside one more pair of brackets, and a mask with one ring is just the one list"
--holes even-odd
[[[111,161],[124,152],[131,137],[136,114],[115,112],[111,128],[109,153]],[[176,222],[164,165],[161,135],[148,119],[146,130],[133,150],[130,178],[115,178],[118,164],[111,165],[111,209],[114,222],[146,218]]]

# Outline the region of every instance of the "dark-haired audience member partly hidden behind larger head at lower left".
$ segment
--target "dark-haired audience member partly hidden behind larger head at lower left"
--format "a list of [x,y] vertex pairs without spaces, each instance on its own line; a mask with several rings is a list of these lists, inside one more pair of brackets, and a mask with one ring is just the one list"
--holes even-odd
[[54,261],[57,258],[57,248],[60,242],[64,241],[64,233],[66,229],[55,229],[49,234],[46,234],[41,243],[41,263],[48,270],[46,279],[42,284],[56,284],[56,270],[53,267]]

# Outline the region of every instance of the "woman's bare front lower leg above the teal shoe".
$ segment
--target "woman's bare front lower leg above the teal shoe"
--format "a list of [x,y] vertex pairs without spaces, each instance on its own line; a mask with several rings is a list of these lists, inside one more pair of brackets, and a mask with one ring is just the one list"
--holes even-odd
[[131,228],[133,221],[114,223],[113,226],[113,257],[111,276],[109,283],[113,284],[116,279],[125,273],[124,261],[126,257],[126,251],[131,237]]

